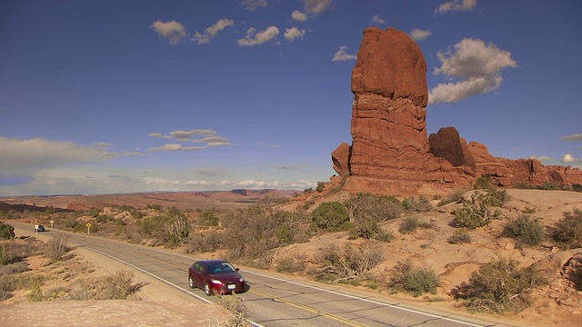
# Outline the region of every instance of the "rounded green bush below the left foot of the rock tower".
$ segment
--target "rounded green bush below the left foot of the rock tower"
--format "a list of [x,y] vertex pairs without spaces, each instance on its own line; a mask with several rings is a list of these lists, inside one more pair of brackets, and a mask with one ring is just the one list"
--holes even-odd
[[338,202],[319,204],[313,212],[312,228],[316,231],[340,232],[350,228],[346,206]]

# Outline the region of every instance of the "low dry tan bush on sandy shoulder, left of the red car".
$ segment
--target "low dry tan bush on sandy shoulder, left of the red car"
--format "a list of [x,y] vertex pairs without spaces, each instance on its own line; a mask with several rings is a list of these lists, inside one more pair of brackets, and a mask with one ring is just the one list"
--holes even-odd
[[146,282],[134,282],[134,273],[130,271],[118,271],[105,276],[96,283],[99,291],[96,294],[98,300],[126,300],[139,292]]

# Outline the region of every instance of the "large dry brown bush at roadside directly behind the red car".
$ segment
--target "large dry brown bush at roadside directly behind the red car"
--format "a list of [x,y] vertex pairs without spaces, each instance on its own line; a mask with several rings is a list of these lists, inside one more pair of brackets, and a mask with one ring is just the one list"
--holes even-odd
[[233,210],[224,217],[223,241],[228,250],[226,256],[233,261],[251,263],[268,250],[278,246],[276,219],[271,209],[249,206]]

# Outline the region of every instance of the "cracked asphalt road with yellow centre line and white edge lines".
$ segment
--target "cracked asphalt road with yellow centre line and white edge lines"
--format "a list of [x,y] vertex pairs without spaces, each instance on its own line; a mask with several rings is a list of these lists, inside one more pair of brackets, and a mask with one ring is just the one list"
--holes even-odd
[[[15,228],[33,231],[27,223]],[[34,233],[34,232],[32,232]],[[52,234],[55,231],[47,231]],[[187,286],[187,269],[193,256],[97,236],[71,233],[70,243],[102,253],[141,272],[156,277],[202,302],[216,302],[202,290]],[[338,290],[326,284],[297,281],[285,275],[241,267],[250,286],[239,294],[256,326],[501,326],[473,317],[427,312],[406,303],[391,302],[375,293]]]

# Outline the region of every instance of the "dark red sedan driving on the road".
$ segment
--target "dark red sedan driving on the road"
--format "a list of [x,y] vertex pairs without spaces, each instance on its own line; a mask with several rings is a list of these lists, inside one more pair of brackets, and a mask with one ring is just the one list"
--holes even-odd
[[188,286],[206,295],[245,292],[246,283],[238,268],[224,260],[201,260],[188,269]]

